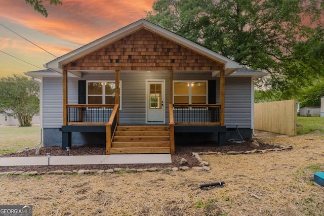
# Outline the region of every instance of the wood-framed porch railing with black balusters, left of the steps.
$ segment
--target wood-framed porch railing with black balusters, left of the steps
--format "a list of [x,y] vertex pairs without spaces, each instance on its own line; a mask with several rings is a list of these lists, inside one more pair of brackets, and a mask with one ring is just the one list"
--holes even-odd
[[109,121],[114,104],[68,104],[67,123],[105,124]]

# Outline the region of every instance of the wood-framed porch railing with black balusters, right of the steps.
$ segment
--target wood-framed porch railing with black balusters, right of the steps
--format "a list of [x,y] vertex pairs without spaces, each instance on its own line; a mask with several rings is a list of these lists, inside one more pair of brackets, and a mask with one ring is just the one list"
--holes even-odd
[[[220,125],[220,104],[171,104],[174,124]],[[170,112],[171,118],[171,112]]]

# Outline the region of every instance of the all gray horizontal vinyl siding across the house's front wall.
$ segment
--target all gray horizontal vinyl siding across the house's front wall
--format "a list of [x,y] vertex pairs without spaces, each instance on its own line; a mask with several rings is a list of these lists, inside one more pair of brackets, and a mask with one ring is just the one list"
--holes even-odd
[[[216,79],[216,101],[219,103],[219,78],[211,73],[174,73],[174,80]],[[68,103],[78,103],[78,80],[114,80],[114,73],[84,73],[82,78],[68,78]],[[165,80],[166,123],[169,123],[169,73],[120,72],[120,123],[144,124],[146,117],[146,79]],[[43,127],[60,128],[62,114],[62,78],[43,78]],[[225,79],[225,125],[251,128],[251,78]]]

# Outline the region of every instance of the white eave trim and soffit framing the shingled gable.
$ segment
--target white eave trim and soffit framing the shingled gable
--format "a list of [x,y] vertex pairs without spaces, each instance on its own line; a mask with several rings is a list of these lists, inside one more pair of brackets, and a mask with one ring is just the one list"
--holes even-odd
[[165,28],[159,27],[145,19],[141,19],[137,22],[134,22],[124,28],[121,28],[117,31],[114,31],[106,36],[103,36],[93,42],[90,42],[90,44],[87,44],[83,47],[80,47],[74,51],[71,51],[70,53],[67,53],[57,59],[54,59],[50,62],[48,62],[45,67],[52,69],[56,72],[62,73],[62,65],[67,64],[69,62],[72,62],[74,60],[77,60],[81,57],[84,57],[98,49],[101,49],[109,44],[112,44],[113,42],[124,38],[127,35],[130,35],[140,29],[147,29],[155,34],[158,34],[160,36],[163,36],[176,44],[179,44],[180,46],[183,46],[185,48],[188,48],[190,50],[193,50],[194,52],[206,56],[216,62],[219,62],[221,64],[225,65],[225,74],[230,74],[234,72],[235,70],[241,68],[241,65],[227,57],[224,57],[214,51],[211,51],[203,46],[200,46],[196,44],[195,42],[188,40],[180,35],[177,35]]

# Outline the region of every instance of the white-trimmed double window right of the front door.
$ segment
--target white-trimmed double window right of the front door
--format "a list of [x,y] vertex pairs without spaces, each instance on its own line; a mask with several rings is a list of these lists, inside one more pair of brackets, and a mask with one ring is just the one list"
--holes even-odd
[[208,104],[208,81],[174,81],[175,104]]

